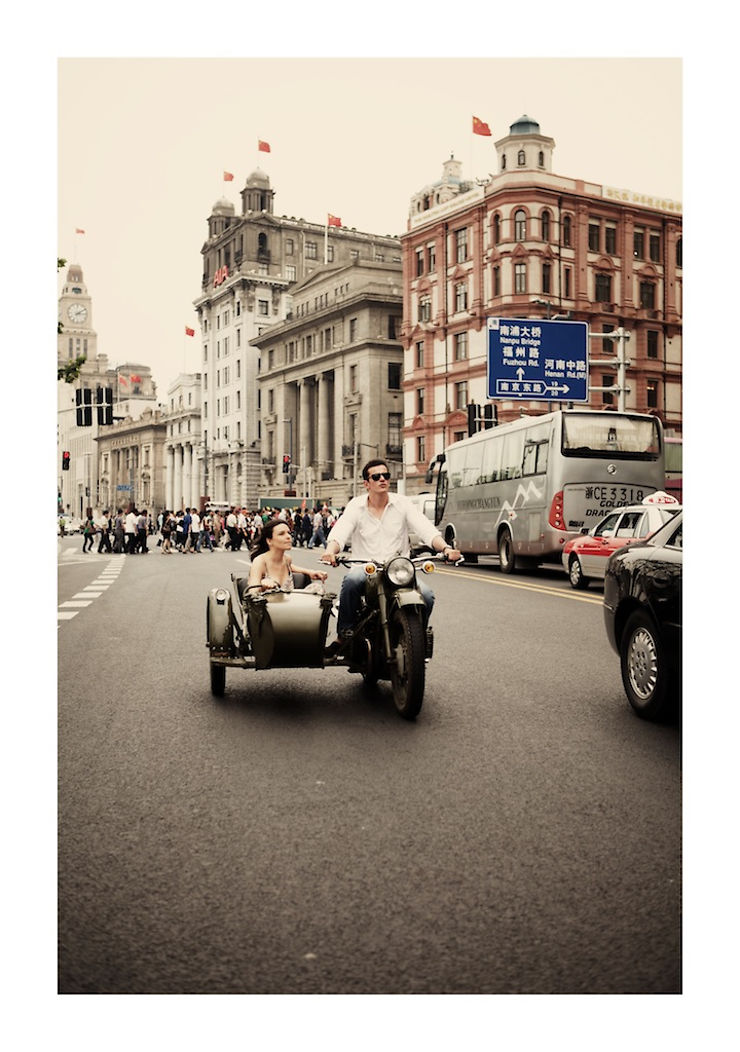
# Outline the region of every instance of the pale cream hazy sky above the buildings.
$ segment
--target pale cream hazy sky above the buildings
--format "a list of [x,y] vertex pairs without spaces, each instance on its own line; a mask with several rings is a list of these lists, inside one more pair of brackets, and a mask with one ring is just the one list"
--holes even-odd
[[[211,208],[225,196],[240,211],[257,166],[278,216],[400,235],[451,154],[465,178],[495,174],[494,142],[527,114],[555,139],[556,174],[682,199],[678,58],[68,58],[58,70],[58,254],[82,265],[99,351],[149,365],[162,402],[199,367],[184,326],[199,332]],[[474,115],[491,139],[472,134]]]

